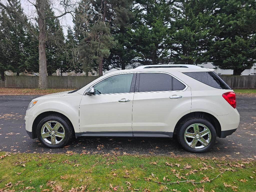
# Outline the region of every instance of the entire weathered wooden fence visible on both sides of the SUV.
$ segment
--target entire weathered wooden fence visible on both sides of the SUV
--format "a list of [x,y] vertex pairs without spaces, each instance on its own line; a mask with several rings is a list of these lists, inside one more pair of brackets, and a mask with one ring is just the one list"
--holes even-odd
[[[256,75],[221,75],[232,89],[256,88]],[[47,76],[49,88],[81,88],[98,76]],[[6,76],[0,87],[38,88],[38,76]]]

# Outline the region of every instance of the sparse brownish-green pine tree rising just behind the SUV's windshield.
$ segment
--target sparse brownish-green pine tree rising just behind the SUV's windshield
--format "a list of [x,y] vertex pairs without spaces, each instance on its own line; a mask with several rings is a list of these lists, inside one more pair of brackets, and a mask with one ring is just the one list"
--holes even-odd
[[[83,27],[88,30],[84,33],[85,38],[80,42],[80,60],[83,63],[84,70],[92,68],[99,71],[99,76],[103,75],[104,58],[110,55],[110,49],[116,44],[111,35],[111,21],[114,16],[114,8],[118,1],[92,0],[86,12],[94,13]],[[81,25],[83,26],[83,25]],[[78,29],[76,29],[78,30]],[[95,65],[98,65],[95,66]],[[106,66],[108,68],[108,66]]]

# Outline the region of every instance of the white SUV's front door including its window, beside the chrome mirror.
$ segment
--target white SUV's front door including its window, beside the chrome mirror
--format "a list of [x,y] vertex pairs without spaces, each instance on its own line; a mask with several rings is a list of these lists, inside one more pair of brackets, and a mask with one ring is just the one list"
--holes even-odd
[[135,79],[136,73],[116,74],[96,83],[95,95],[83,95],[79,109],[82,136],[133,136]]

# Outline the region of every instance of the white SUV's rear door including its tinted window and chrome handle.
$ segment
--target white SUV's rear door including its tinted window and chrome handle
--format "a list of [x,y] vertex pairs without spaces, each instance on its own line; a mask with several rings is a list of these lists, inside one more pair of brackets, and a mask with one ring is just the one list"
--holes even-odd
[[175,122],[191,109],[191,89],[165,72],[138,72],[133,98],[133,136],[172,137]]

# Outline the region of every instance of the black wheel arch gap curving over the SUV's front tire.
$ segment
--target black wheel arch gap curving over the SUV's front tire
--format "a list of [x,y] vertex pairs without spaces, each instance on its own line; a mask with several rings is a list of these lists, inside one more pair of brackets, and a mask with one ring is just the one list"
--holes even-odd
[[34,120],[34,122],[32,124],[32,136],[33,136],[33,138],[37,138],[36,129],[37,129],[38,123],[41,121],[42,118],[45,118],[48,115],[60,115],[64,118],[66,118],[69,121],[69,123],[71,124],[72,129],[74,130],[74,125],[72,124],[72,122],[70,121],[70,119],[66,115],[64,115],[60,112],[56,112],[56,111],[46,111],[46,112],[42,112],[39,115],[37,115],[36,119]]

